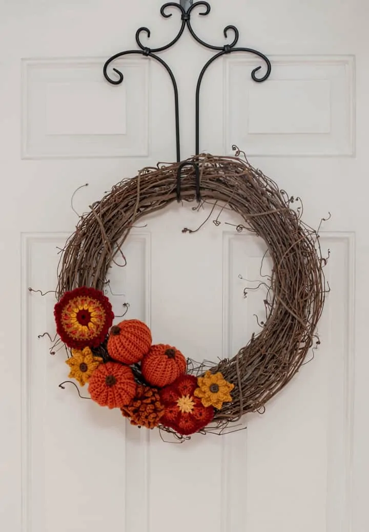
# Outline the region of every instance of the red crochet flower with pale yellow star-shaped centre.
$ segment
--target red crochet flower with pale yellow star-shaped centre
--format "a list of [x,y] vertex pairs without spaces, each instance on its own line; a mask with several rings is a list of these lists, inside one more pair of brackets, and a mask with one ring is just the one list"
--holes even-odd
[[203,429],[214,417],[212,406],[203,406],[201,399],[193,395],[198,380],[193,375],[181,375],[170,386],[160,390],[165,407],[160,419],[162,425],[187,436]]

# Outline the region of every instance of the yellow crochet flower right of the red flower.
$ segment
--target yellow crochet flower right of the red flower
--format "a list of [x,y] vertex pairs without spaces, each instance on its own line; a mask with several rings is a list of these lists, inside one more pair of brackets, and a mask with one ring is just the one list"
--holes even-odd
[[222,373],[212,375],[207,371],[203,377],[198,378],[199,388],[196,388],[194,395],[201,398],[204,406],[214,406],[218,410],[223,403],[231,403],[232,397],[229,392],[233,390],[234,384],[227,383]]

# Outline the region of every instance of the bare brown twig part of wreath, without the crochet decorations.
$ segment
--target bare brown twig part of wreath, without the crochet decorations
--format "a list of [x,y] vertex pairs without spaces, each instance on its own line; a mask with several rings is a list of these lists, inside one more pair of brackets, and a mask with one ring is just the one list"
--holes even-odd
[[[199,164],[202,200],[239,214],[244,228],[265,240],[273,261],[267,317],[259,334],[212,368],[235,385],[233,402],[215,415],[224,427],[247,412],[262,410],[319,343],[315,330],[326,292],[326,260],[317,231],[291,209],[293,198],[247,161],[208,154],[188,161]],[[124,257],[122,245],[137,220],[176,201],[178,165],[145,168],[91,205],[65,245],[58,269],[58,298],[78,286],[104,288],[114,256]],[[186,166],[181,178],[184,201],[195,199],[194,178],[193,167]]]

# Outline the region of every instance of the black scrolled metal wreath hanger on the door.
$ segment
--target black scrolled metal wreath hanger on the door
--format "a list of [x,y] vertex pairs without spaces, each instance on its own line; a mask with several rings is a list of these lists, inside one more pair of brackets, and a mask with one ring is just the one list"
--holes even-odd
[[[181,3],[177,2],[167,2],[166,4],[163,4],[160,8],[160,13],[163,16],[163,18],[168,19],[172,16],[173,13],[170,12],[170,10],[178,10],[181,13],[181,27],[178,30],[177,35],[173,40],[170,41],[170,43],[160,46],[158,48],[149,48],[145,46],[141,42],[141,35],[145,34],[147,38],[151,37],[151,31],[149,28],[141,27],[138,28],[136,31],[136,43],[138,46],[138,49],[135,50],[126,50],[124,52],[119,52],[118,54],[114,54],[108,59],[108,61],[105,62],[103,72],[105,79],[109,81],[112,85],[120,85],[121,82],[124,79],[123,74],[116,68],[113,68],[113,71],[117,74],[118,79],[113,79],[108,74],[108,67],[109,65],[118,59],[119,57],[123,57],[125,55],[144,55],[146,57],[152,57],[155,61],[158,61],[168,72],[171,84],[173,85],[173,92],[174,92],[174,107],[175,107],[175,128],[176,128],[176,153],[177,153],[177,162],[181,161],[181,142],[180,142],[180,134],[179,134],[179,97],[178,97],[178,86],[176,82],[176,78],[173,74],[173,71],[170,69],[169,65],[161,59],[157,54],[160,52],[163,52],[167,50],[168,48],[171,48],[173,45],[177,43],[177,41],[181,38],[185,28],[187,27],[188,31],[190,31],[190,34],[195,39],[197,43],[199,43],[201,46],[204,46],[205,48],[209,48],[211,50],[214,50],[215,55],[212,56],[203,66],[199,78],[196,84],[196,98],[195,98],[195,154],[199,155],[200,153],[200,92],[201,92],[201,83],[204,77],[204,74],[206,73],[209,66],[214,63],[219,57],[222,57],[225,54],[231,54],[233,52],[245,52],[245,53],[251,53],[253,55],[256,55],[262,59],[266,64],[266,73],[264,76],[257,77],[257,72],[261,69],[261,66],[257,66],[255,69],[251,72],[251,78],[253,81],[256,81],[258,83],[265,81],[268,79],[270,72],[272,71],[272,65],[270,64],[269,59],[266,57],[266,55],[262,54],[261,52],[258,52],[257,50],[253,48],[241,48],[239,46],[236,46],[236,44],[239,41],[239,30],[233,26],[233,24],[229,24],[226,26],[223,30],[223,34],[225,38],[228,38],[229,35],[233,34],[233,40],[229,44],[225,44],[222,46],[216,46],[212,45],[210,43],[206,43],[206,41],[200,39],[198,35],[196,35],[195,31],[192,28],[191,25],[191,16],[194,10],[197,10],[200,8],[199,15],[200,16],[206,16],[210,13],[211,7],[208,2],[195,2],[192,3],[191,0],[181,0]],[[180,178],[181,178],[181,170],[182,165],[180,169],[178,170],[178,180],[177,180],[177,197],[180,197]],[[198,183],[199,179],[199,172],[196,172],[195,174],[195,180],[196,180],[196,199],[200,200],[200,186]],[[178,196],[179,195],[179,196]]]

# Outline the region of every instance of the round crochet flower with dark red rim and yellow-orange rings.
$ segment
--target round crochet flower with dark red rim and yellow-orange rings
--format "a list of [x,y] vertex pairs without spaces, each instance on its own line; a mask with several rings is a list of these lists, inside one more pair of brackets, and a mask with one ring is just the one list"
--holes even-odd
[[83,286],[65,292],[54,307],[56,331],[68,347],[97,347],[105,339],[114,314],[100,290]]

